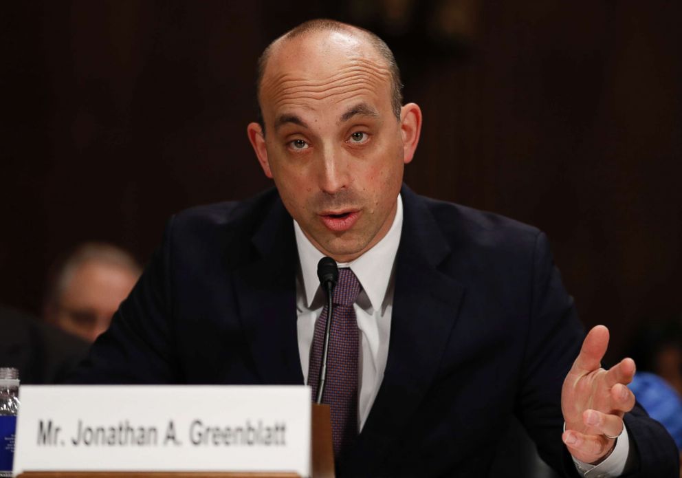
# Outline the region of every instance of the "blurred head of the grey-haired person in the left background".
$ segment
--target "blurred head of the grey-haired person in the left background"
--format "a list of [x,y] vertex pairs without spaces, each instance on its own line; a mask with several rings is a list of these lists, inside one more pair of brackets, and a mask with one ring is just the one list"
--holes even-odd
[[47,281],[47,323],[89,342],[111,323],[142,268],[128,252],[108,243],[83,243],[58,261]]

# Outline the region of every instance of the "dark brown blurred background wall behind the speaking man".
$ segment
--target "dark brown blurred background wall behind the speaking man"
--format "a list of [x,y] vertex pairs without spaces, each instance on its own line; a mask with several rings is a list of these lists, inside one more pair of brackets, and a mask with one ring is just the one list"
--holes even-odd
[[[393,48],[418,193],[536,225],[586,325],[682,310],[679,1],[30,1],[0,7],[0,303],[100,239],[146,261],[169,215],[270,185],[245,133],[263,47],[314,17]],[[302,58],[301,61],[305,61]]]

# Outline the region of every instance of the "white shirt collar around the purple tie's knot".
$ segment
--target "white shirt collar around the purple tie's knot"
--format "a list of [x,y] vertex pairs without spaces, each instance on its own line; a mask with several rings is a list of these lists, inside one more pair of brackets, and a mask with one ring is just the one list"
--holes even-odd
[[[403,226],[403,202],[400,195],[397,197],[395,218],[388,233],[373,248],[349,263],[337,263],[339,267],[347,267],[353,271],[362,290],[365,292],[371,307],[378,310],[384,305],[384,298],[391,281],[395,255],[398,252],[400,233]],[[318,295],[322,293],[320,281],[317,276],[318,262],[324,254],[305,237],[298,223],[294,220],[294,232],[296,234],[296,247],[300,260],[300,279],[303,281],[305,291],[305,303],[309,309]]]

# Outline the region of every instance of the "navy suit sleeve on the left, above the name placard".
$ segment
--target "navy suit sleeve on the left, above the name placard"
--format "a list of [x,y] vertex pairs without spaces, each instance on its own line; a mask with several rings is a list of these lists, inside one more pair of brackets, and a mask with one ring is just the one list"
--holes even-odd
[[81,384],[181,382],[173,332],[173,218],[131,294],[69,378]]

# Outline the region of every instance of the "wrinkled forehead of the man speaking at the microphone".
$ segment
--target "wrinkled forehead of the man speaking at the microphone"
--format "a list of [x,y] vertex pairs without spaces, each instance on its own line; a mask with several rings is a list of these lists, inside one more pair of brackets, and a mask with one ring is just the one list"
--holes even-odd
[[264,116],[292,108],[334,107],[364,100],[390,104],[391,70],[363,36],[315,32],[273,45],[260,99]]

